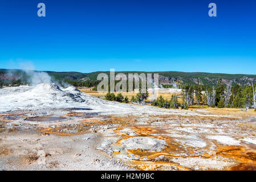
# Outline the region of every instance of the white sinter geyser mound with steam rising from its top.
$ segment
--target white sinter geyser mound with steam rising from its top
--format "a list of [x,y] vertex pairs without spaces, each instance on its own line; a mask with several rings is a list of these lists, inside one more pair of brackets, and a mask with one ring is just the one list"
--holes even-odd
[[[68,88],[71,89],[71,88]],[[78,91],[60,89],[56,84],[19,86],[0,90],[0,111],[58,109],[81,105]]]

